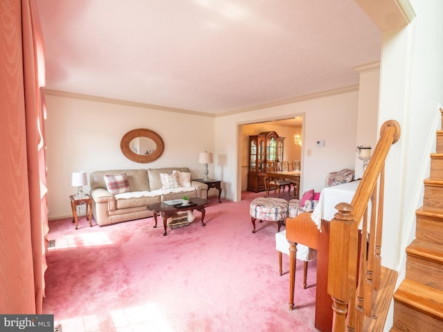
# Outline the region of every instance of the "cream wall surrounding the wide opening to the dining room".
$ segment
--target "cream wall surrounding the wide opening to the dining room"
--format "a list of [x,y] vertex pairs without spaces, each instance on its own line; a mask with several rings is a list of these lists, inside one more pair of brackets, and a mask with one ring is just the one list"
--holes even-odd
[[[246,149],[242,146],[239,125],[281,120],[305,113],[300,192],[309,189],[320,191],[325,186],[327,173],[343,168],[354,169],[357,111],[358,92],[352,91],[217,117],[215,153],[220,163],[215,169],[215,177],[223,179],[226,196],[239,201],[242,151]],[[317,140],[325,140],[325,147],[316,147]],[[307,156],[307,149],[311,149],[311,156]]]

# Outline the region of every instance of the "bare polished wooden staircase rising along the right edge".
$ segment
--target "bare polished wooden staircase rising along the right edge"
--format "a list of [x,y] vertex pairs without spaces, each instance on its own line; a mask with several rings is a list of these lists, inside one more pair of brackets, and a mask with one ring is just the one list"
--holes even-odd
[[436,152],[415,212],[415,239],[406,248],[406,277],[394,293],[391,332],[443,331],[443,131]]

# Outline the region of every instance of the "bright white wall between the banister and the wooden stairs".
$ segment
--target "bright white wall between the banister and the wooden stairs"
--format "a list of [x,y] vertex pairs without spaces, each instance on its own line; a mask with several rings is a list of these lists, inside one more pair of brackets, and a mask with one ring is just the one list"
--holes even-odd
[[[383,266],[405,275],[405,250],[415,238],[415,210],[423,204],[435,131],[443,100],[443,1],[410,0],[416,17],[404,29],[383,33],[379,124],[401,125],[401,138],[386,160]],[[392,304],[385,330],[392,326]]]

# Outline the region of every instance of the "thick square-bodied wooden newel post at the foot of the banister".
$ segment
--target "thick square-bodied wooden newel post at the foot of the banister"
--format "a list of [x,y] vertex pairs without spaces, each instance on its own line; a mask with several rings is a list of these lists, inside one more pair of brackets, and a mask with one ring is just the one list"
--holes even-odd
[[331,221],[327,293],[334,310],[332,331],[345,331],[347,306],[356,289],[358,223],[354,222],[352,205],[339,203]]

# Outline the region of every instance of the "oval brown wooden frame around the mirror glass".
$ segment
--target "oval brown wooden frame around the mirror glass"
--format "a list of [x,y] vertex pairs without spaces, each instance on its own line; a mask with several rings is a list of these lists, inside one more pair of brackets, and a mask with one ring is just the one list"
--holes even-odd
[[[134,138],[138,137],[147,137],[155,142],[156,149],[154,152],[152,152],[152,154],[136,154],[134,151],[132,151],[132,149],[129,147],[129,143]],[[140,128],[133,129],[132,131],[125,133],[120,141],[120,149],[129,160],[135,161],[136,163],[151,163],[152,161],[159,159],[163,154],[163,151],[165,150],[165,143],[160,135],[155,131]]]

